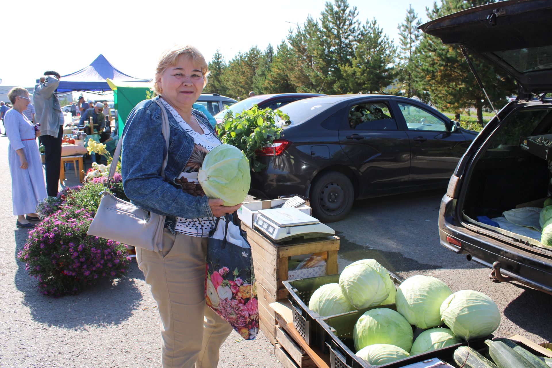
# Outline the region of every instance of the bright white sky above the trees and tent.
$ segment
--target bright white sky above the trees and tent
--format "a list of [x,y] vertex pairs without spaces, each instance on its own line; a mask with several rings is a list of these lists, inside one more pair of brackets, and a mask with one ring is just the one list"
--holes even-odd
[[[397,25],[410,4],[426,22],[426,7],[433,2],[348,0],[360,22],[375,18],[396,44]],[[99,54],[132,77],[152,78],[161,52],[175,44],[198,47],[208,61],[220,49],[229,61],[254,45],[275,49],[290,28],[309,14],[320,18],[324,7],[324,0],[7,0],[0,8],[0,79],[4,85],[31,87],[46,70],[70,74]]]

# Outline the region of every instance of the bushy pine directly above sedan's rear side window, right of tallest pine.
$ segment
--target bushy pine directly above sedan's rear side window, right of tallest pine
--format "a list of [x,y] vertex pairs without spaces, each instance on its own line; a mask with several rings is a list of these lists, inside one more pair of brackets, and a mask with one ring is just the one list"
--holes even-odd
[[349,93],[383,93],[394,79],[396,47],[378,22],[363,25],[351,66],[342,66]]

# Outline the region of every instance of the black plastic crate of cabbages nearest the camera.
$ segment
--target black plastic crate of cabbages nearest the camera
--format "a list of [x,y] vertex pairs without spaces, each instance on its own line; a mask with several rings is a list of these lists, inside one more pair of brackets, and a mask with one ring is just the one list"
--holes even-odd
[[[390,308],[396,310],[395,305],[370,307],[364,311],[354,311],[337,316],[318,318],[319,323],[325,330],[325,342],[330,349],[331,368],[374,368],[362,358],[355,355],[353,343],[353,328],[358,318],[364,312],[375,308]],[[415,334],[416,335],[416,334]],[[480,349],[485,346],[486,339],[492,339],[489,335],[483,339],[470,340],[470,348]],[[446,346],[436,350],[410,356],[405,359],[397,360],[388,364],[379,365],[378,368],[400,368],[408,364],[416,363],[431,358],[438,358],[445,362],[454,362],[453,354],[459,346],[467,345],[465,342]]]

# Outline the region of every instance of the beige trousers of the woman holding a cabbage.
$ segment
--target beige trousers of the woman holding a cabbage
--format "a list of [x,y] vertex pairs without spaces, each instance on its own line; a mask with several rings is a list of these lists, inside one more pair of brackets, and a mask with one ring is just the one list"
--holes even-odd
[[215,368],[220,345],[232,332],[205,304],[207,241],[164,230],[162,252],[136,248],[161,317],[163,368]]

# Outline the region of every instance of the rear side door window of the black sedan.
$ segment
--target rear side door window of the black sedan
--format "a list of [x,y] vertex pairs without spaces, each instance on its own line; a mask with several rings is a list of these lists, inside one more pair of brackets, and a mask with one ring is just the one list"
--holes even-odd
[[349,108],[349,128],[354,130],[397,130],[397,123],[385,102],[367,102]]

